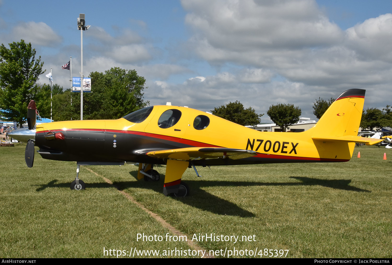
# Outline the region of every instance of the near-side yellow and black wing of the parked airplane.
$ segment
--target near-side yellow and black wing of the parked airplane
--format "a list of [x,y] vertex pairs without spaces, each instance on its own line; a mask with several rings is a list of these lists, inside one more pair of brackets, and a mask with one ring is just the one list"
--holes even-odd
[[257,155],[258,152],[252,150],[241,150],[233,148],[211,148],[211,147],[187,147],[169,150],[159,150],[148,152],[147,155],[158,158],[171,158],[177,160],[198,160],[198,159],[216,159],[230,158],[241,159]]

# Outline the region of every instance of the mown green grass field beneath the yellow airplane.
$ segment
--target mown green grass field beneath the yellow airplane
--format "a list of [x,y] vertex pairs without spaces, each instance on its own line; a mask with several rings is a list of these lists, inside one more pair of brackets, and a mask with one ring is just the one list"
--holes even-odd
[[[289,250],[290,258],[392,257],[392,152],[385,148],[356,147],[347,163],[200,167],[201,178],[187,169],[183,181],[191,192],[185,198],[163,196],[165,166],[158,167],[159,182],[137,181],[133,165],[81,166],[86,190],[71,191],[76,163],[36,153],[34,167],[27,168],[24,148],[0,148],[0,257],[102,258],[104,247],[193,249],[185,241],[166,241],[172,235],[167,228],[87,168],[188,241],[199,233],[239,236],[235,243],[193,240],[207,253],[235,248],[243,250],[235,257],[246,257],[245,250],[270,255],[264,249]],[[138,233],[163,240],[137,241]]]

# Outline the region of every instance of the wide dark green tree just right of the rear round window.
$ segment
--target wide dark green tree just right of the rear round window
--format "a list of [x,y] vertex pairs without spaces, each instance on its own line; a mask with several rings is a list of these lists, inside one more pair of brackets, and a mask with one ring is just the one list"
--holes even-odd
[[251,107],[245,110],[243,104],[239,101],[230,102],[226,105],[214,108],[214,110],[211,110],[211,112],[218,117],[243,126],[259,124],[260,117],[264,115],[257,114]]

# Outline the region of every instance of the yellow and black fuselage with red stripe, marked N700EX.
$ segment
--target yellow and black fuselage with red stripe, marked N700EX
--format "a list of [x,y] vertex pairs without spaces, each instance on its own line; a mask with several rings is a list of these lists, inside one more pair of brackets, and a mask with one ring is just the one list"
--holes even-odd
[[[162,126],[163,113],[171,110],[180,111],[179,119],[173,126]],[[209,124],[195,128],[196,117],[208,119]],[[63,136],[58,136],[59,133]],[[51,134],[56,137],[49,137]],[[165,164],[165,161],[149,157],[147,152],[186,147],[236,148],[260,153],[230,161],[195,159],[195,165],[343,162],[352,154],[348,154],[347,148],[341,148],[340,152],[333,143],[312,141],[307,132],[258,132],[210,113],[178,106],[154,106],[142,122],[120,118],[40,124],[36,128],[35,145],[40,147],[38,152],[45,159],[151,164]],[[320,148],[334,152],[320,156]]]

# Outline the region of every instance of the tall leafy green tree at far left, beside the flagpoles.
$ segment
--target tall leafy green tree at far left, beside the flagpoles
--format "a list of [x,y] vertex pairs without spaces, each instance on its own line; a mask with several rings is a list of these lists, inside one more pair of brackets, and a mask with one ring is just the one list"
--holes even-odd
[[24,40],[9,43],[9,49],[0,46],[0,109],[7,121],[16,121],[20,126],[27,117],[27,105],[37,93],[38,76],[44,62],[35,58],[36,51]]

